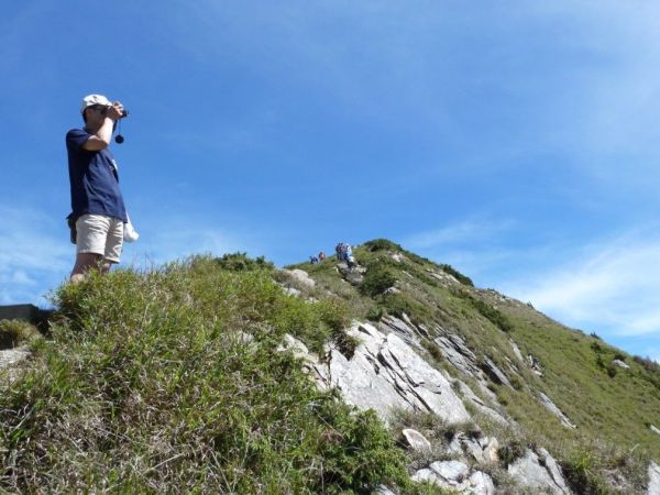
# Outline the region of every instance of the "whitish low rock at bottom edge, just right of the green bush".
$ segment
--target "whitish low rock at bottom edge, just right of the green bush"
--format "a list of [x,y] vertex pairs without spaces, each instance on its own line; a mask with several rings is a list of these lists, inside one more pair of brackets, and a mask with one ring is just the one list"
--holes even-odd
[[455,492],[492,495],[495,493],[493,480],[482,471],[470,471],[461,461],[437,461],[413,475],[417,482],[428,482]]

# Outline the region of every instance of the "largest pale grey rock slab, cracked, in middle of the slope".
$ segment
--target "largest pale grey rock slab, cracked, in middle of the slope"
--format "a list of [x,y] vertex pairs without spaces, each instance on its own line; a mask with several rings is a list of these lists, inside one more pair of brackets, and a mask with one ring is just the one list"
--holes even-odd
[[396,408],[430,411],[448,424],[471,419],[442,373],[398,336],[385,336],[369,323],[348,333],[362,343],[351,360],[330,349],[329,363],[314,366],[321,386],[339,388],[349,404],[373,408],[384,419]]

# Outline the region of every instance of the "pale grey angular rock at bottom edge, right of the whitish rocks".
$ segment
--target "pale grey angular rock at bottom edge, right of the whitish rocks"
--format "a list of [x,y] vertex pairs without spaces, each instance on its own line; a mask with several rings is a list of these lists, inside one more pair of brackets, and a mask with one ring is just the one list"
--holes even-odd
[[560,495],[571,493],[557,461],[544,449],[539,449],[538,454],[528,449],[522,458],[509,464],[508,473],[520,485],[532,490]]

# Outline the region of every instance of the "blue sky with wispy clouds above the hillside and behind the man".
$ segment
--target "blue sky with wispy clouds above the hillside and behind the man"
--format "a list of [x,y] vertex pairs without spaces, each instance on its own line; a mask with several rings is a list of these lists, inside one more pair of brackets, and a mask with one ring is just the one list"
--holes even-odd
[[658,24],[607,0],[8,4],[0,304],[70,271],[64,135],[100,92],[131,111],[124,266],[388,238],[660,359]]

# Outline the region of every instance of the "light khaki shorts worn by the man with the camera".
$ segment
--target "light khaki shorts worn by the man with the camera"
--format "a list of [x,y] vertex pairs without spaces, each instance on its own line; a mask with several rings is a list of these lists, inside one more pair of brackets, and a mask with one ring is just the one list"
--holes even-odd
[[100,254],[119,263],[123,246],[123,221],[105,215],[84,215],[76,220],[76,253]]

